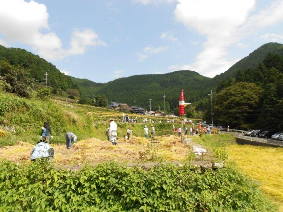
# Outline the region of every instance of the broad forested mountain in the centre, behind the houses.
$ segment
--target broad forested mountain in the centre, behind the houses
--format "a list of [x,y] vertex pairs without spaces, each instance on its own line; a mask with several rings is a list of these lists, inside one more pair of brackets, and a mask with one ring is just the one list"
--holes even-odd
[[181,89],[184,89],[187,102],[197,102],[212,89],[212,79],[197,72],[183,70],[166,74],[136,75],[120,78],[106,83],[97,90],[97,94],[105,94],[108,102],[123,102],[129,105],[149,109],[149,98],[152,110],[164,110],[164,94],[166,110],[179,105]]

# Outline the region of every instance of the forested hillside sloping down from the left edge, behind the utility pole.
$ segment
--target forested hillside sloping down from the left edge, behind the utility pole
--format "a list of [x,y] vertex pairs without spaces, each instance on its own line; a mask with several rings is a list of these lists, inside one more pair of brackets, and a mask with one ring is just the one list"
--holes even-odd
[[21,65],[23,68],[28,69],[31,77],[38,83],[45,82],[45,74],[47,73],[48,86],[60,90],[78,88],[70,76],[64,75],[53,64],[24,49],[6,48],[0,45],[0,61],[4,59],[13,66]]

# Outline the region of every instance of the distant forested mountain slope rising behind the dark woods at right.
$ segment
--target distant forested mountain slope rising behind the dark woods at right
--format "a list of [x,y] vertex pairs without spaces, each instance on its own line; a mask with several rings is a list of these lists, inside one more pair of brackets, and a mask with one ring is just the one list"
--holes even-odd
[[283,55],[283,45],[279,43],[264,44],[248,56],[235,63],[224,73],[215,76],[213,80],[218,83],[219,81],[227,80],[230,77],[235,78],[239,70],[245,71],[248,68],[255,68],[269,53],[279,53],[280,55]]

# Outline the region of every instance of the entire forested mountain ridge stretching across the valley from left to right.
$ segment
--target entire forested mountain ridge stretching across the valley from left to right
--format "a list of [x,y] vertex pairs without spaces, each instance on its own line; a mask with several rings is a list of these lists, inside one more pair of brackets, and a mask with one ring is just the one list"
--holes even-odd
[[219,81],[227,80],[230,77],[235,78],[239,70],[245,71],[249,67],[255,68],[268,53],[283,55],[283,44],[264,44],[213,79],[195,71],[181,70],[166,74],[135,75],[107,83],[96,83],[88,79],[66,76],[51,63],[26,50],[6,48],[0,45],[0,60],[7,58],[13,65],[23,64],[30,68],[32,76],[38,82],[44,82],[44,74],[48,72],[48,85],[52,87],[79,88],[85,98],[104,94],[109,104],[114,101],[148,108],[151,99],[152,107],[155,109],[164,108],[165,103],[169,104],[171,109],[177,107],[179,103],[176,99],[179,98],[182,88],[185,91],[186,101],[198,102],[207,97],[210,90],[215,91]]

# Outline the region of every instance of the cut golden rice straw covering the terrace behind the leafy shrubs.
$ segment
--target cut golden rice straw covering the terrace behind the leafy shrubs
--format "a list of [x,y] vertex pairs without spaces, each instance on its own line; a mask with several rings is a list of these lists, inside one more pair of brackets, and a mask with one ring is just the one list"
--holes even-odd
[[[56,165],[98,164],[101,162],[115,161],[119,163],[134,163],[149,161],[154,155],[157,161],[184,161],[187,159],[191,148],[181,144],[177,136],[157,137],[155,143],[143,137],[135,137],[128,141],[119,139],[114,146],[108,141],[96,138],[78,141],[71,149],[65,145],[52,145]],[[30,162],[30,153],[33,145],[18,141],[18,145],[0,148],[0,158],[13,162]]]

